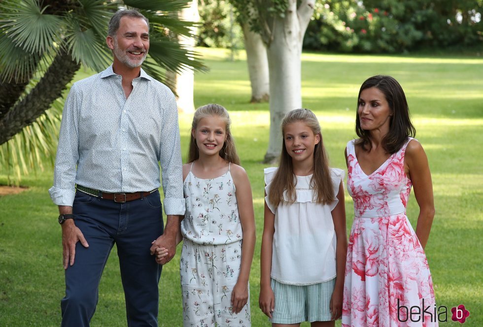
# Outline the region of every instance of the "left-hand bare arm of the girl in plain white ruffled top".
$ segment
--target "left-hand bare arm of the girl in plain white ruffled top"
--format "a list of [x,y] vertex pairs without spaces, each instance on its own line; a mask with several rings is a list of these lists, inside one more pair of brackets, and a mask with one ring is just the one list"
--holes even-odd
[[[265,195],[266,196],[266,195]],[[262,250],[260,255],[260,296],[258,304],[263,313],[272,318],[275,307],[275,296],[270,283],[272,272],[272,246],[275,233],[275,214],[265,202]]]

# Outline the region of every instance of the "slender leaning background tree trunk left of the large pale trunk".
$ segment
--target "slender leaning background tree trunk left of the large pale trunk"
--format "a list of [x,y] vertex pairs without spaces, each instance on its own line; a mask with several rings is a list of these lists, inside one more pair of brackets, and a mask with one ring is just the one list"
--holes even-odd
[[251,85],[250,102],[266,102],[270,98],[267,48],[260,34],[250,31],[247,22],[242,24],[242,29]]

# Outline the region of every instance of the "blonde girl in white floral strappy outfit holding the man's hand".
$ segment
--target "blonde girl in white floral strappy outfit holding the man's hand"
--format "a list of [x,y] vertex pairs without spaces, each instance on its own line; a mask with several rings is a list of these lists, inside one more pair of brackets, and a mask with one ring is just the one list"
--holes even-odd
[[[183,165],[185,327],[251,326],[248,277],[255,221],[250,183],[239,164],[227,110],[217,104],[198,108]],[[159,262],[163,250],[158,251]]]

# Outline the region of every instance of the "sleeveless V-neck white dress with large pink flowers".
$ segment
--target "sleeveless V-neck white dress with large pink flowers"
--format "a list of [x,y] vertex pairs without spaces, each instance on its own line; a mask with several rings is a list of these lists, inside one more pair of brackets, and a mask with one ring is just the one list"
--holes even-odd
[[370,175],[357,162],[354,140],[347,143],[347,191],[355,218],[345,266],[343,327],[438,326],[426,255],[406,216],[412,182],[404,171],[404,154],[411,140]]

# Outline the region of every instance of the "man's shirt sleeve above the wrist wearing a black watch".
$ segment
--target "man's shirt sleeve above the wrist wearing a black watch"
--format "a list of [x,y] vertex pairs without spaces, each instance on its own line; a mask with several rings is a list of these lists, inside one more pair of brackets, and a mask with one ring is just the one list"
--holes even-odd
[[49,189],[50,198],[57,205],[72,206],[74,202],[76,165],[79,160],[78,104],[79,95],[74,84],[70,88],[62,112],[54,185]]

